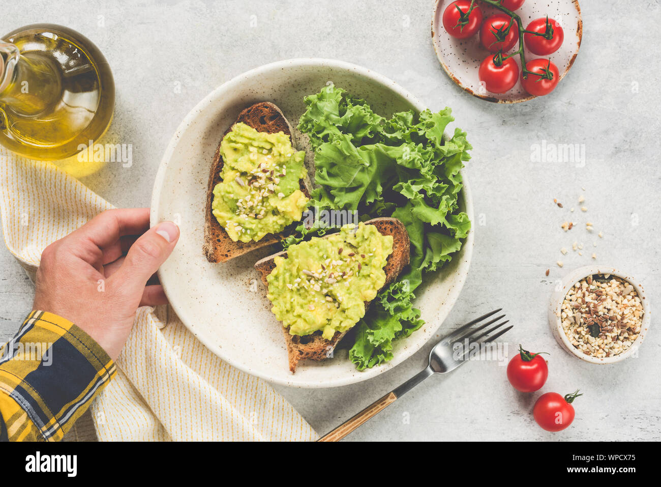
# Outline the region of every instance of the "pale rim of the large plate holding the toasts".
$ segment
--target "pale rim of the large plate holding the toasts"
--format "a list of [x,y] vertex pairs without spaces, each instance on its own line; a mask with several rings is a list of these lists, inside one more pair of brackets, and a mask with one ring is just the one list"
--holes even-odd
[[[161,199],[161,189],[163,188],[163,183],[168,173],[170,161],[173,154],[175,153],[178,141],[180,140],[182,133],[185,132],[188,128],[190,128],[194,124],[196,118],[198,117],[198,114],[204,111],[204,109],[206,109],[206,107],[208,107],[210,104],[214,103],[214,101],[218,99],[226,91],[238,89],[239,86],[241,85],[241,82],[244,79],[247,79],[248,77],[260,76],[264,73],[276,69],[287,69],[292,66],[305,66],[305,65],[329,66],[329,67],[334,67],[336,69],[354,71],[355,73],[358,73],[358,75],[368,77],[372,81],[381,84],[383,87],[387,87],[388,89],[395,91],[397,95],[403,97],[404,99],[407,99],[410,102],[410,104],[413,105],[414,109],[416,109],[417,111],[421,112],[424,109],[426,109],[426,107],[416,97],[408,93],[408,91],[403,89],[403,87],[397,85],[395,81],[392,81],[391,79],[383,75],[375,73],[374,71],[371,71],[366,67],[361,67],[355,64],[338,61],[338,60],[331,60],[324,58],[297,58],[297,59],[290,59],[290,60],[265,64],[263,66],[256,67],[254,69],[246,71],[245,73],[241,73],[233,77],[229,81],[223,83],[222,85],[214,89],[214,91],[212,91],[204,99],[202,99],[202,101],[200,101],[190,112],[188,112],[184,120],[182,120],[182,122],[179,124],[178,128],[176,129],[175,134],[171,138],[165,150],[165,153],[163,154],[161,163],[159,165],[159,169],[156,173],[156,177],[154,180],[153,192],[151,197],[151,212],[150,212],[151,226],[155,226],[156,224],[159,223],[158,208]],[[469,216],[471,222],[473,222],[475,218],[473,216],[474,215],[473,200],[471,198],[471,191],[469,189],[469,184],[466,179],[465,171],[462,171],[461,175],[463,179],[463,188],[461,189],[461,193],[463,193],[463,204],[465,206],[465,212]],[[475,228],[471,228],[471,231],[468,233],[468,236],[463,244],[463,248],[462,248],[463,254],[461,259],[462,261],[461,263],[459,263],[459,269],[461,269],[461,271],[457,272],[457,277],[455,279],[455,283],[453,284],[453,292],[448,294],[447,300],[444,302],[444,306],[440,310],[440,313],[437,316],[433,316],[433,317],[430,316],[428,318],[429,321],[426,322],[427,326],[425,326],[424,329],[417,330],[415,332],[418,333],[417,335],[418,340],[416,341],[418,341],[419,345],[416,347],[404,347],[403,349],[397,351],[397,354],[395,354],[395,357],[393,357],[391,361],[377,367],[372,367],[371,369],[362,371],[357,374],[348,375],[344,378],[335,378],[332,380],[325,380],[324,382],[303,382],[298,380],[296,382],[292,382],[290,380],[282,380],[274,376],[269,376],[268,374],[258,373],[257,371],[251,369],[251,367],[245,365],[245,363],[241,363],[239,361],[233,360],[230,357],[228,357],[225,353],[223,353],[223,350],[220,347],[215,345],[213,341],[207,339],[206,337],[204,337],[199,333],[196,333],[190,326],[188,326],[187,323],[190,321],[188,320],[187,317],[188,313],[186,312],[185,308],[183,308],[182,306],[178,306],[178,304],[176,304],[176,300],[171,299],[170,306],[172,306],[173,310],[175,311],[176,315],[181,320],[181,322],[184,324],[184,326],[186,326],[186,328],[188,328],[188,330],[190,330],[190,332],[192,332],[195,335],[195,337],[198,340],[200,340],[200,342],[202,342],[215,355],[220,357],[220,359],[229,363],[229,365],[236,367],[240,371],[243,371],[250,375],[258,376],[274,384],[293,386],[299,388],[331,388],[331,387],[345,386],[348,384],[355,384],[357,382],[362,382],[364,380],[368,380],[369,378],[373,378],[375,376],[381,375],[386,371],[389,371],[393,367],[399,365],[400,363],[408,359],[408,357],[416,353],[419,349],[424,347],[424,345],[429,341],[429,339],[434,336],[434,333],[436,333],[438,328],[440,328],[440,326],[443,324],[443,322],[447,318],[447,315],[452,310],[455,302],[457,302],[457,299],[459,298],[459,294],[461,294],[461,289],[465,284],[466,278],[468,276],[468,271],[471,265],[474,241],[475,241]],[[159,276],[159,279],[161,279],[160,269],[157,272],[157,275]],[[161,283],[163,284],[163,290],[165,290],[165,294],[169,296],[167,284],[163,281],[164,280],[161,279]],[[411,337],[414,335],[411,335]],[[405,339],[410,339],[411,337],[407,337]]]

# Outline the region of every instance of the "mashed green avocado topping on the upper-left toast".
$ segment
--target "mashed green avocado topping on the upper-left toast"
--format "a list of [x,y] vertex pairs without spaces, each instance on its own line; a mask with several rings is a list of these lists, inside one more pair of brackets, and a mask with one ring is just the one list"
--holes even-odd
[[223,179],[212,212],[234,242],[257,241],[301,220],[308,199],[300,189],[304,151],[284,132],[268,134],[237,123],[220,144]]

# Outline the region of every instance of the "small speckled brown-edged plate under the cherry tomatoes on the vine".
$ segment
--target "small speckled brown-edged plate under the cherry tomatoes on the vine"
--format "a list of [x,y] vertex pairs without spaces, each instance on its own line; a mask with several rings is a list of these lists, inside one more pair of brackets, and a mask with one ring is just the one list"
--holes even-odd
[[[479,34],[467,39],[457,39],[447,34],[443,26],[443,13],[453,1],[436,1],[432,13],[432,44],[434,44],[434,50],[441,66],[452,81],[474,97],[494,103],[520,103],[535,98],[524,91],[520,81],[517,81],[514,88],[502,95],[486,91],[477,76],[477,71],[481,62],[490,53],[480,45]],[[477,1],[479,2],[479,0]],[[479,3],[485,20],[490,15],[502,13],[502,11],[491,5]],[[525,0],[524,5],[516,13],[521,17],[524,28],[527,27],[529,22],[546,15],[549,16],[549,19],[560,22],[564,32],[563,45],[546,58],[551,58],[551,62],[558,67],[562,81],[564,75],[574,64],[583,35],[583,21],[578,0]],[[512,50],[516,50],[517,46],[518,43]],[[545,56],[537,56],[525,50],[526,61],[541,57]],[[514,60],[516,60],[519,72],[521,72],[519,56],[515,56]]]

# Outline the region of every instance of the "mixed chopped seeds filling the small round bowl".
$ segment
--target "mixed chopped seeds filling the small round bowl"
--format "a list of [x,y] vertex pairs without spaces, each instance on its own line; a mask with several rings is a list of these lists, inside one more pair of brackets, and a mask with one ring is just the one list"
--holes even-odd
[[623,353],[641,332],[643,308],[635,288],[609,274],[576,283],[564,296],[561,320],[570,343],[586,355]]

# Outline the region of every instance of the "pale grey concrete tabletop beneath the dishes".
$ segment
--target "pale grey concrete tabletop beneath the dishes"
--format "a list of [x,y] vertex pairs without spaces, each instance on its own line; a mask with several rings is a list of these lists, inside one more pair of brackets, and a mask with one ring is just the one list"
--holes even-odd
[[[441,331],[503,307],[516,324],[508,333],[510,357],[518,343],[549,351],[543,391],[580,388],[584,396],[569,429],[546,433],[531,416],[539,393],[518,394],[505,367],[476,361],[429,378],[347,439],[658,440],[661,333],[655,320],[639,357],[597,366],[564,352],[546,318],[557,279],[591,263],[593,251],[597,263],[627,269],[644,282],[650,302],[661,302],[661,58],[652,54],[661,9],[658,0],[634,3],[581,0],[584,38],[574,67],[551,96],[514,106],[475,99],[442,71],[430,42],[431,1],[24,0],[3,5],[0,33],[55,22],[102,49],[118,89],[111,135],[134,145],[134,164],[106,167],[83,182],[117,206],[149,205],[161,155],[180,120],[217,85],[261,64],[307,56],[354,62],[394,79],[432,109],[452,107],[455,124],[474,146],[465,173],[476,242],[465,288]],[[543,141],[579,144],[584,164],[533,161]],[[585,214],[578,210],[580,195]],[[603,239],[586,233],[588,218]],[[570,219],[579,224],[565,234],[560,225]],[[561,255],[574,241],[586,244],[584,255]],[[30,310],[33,290],[4,247],[0,269],[1,341]],[[278,390],[323,433],[421,369],[430,345],[369,382]]]

